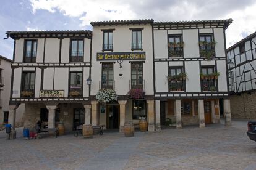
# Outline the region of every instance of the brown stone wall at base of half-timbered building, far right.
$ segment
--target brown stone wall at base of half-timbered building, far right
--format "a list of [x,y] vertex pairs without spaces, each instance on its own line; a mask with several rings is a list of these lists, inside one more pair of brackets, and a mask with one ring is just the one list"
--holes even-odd
[[256,119],[256,92],[230,96],[231,118]]

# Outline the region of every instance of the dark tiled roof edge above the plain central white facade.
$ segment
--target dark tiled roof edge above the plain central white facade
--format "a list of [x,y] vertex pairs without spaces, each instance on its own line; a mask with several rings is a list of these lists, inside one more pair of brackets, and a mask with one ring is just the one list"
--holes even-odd
[[148,20],[111,20],[111,21],[100,21],[100,22],[90,22],[90,25],[122,25],[122,24],[152,24],[153,19]]

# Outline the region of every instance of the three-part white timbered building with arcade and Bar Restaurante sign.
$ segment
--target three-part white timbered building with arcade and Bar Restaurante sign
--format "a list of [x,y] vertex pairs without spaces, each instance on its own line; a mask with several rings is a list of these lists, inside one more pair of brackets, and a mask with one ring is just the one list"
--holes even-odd
[[[9,122],[25,104],[24,127],[42,119],[122,131],[125,121],[218,123],[231,116],[225,30],[232,20],[91,22],[93,31],[7,31],[14,39]],[[117,101],[99,102],[110,89]],[[143,92],[130,97],[130,92]],[[223,103],[223,104],[222,104]]]

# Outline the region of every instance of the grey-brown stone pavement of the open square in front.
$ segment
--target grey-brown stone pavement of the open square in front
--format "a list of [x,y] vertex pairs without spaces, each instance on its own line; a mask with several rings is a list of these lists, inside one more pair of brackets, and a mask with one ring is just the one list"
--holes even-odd
[[105,133],[92,139],[73,134],[15,140],[0,131],[0,169],[256,169],[256,142],[246,135],[247,122],[232,127],[210,124],[135,137]]

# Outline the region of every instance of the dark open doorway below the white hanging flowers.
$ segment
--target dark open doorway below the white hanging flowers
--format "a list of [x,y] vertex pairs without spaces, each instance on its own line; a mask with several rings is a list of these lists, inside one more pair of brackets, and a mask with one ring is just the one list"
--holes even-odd
[[119,105],[106,105],[107,128],[119,129]]

